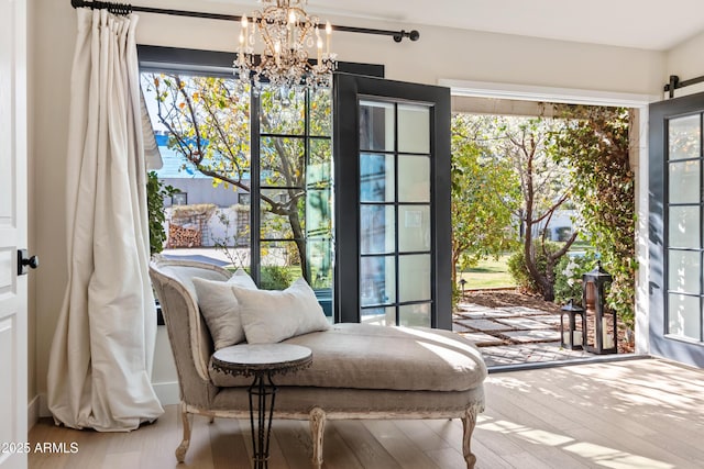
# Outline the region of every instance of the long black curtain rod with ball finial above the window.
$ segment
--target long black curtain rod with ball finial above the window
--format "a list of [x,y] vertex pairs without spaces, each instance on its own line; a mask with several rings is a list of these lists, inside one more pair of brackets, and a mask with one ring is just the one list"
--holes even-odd
[[[240,21],[242,16],[235,14],[221,14],[221,13],[205,13],[200,11],[186,11],[186,10],[168,10],[162,8],[140,7],[128,3],[112,3],[105,1],[84,1],[84,0],[70,0],[70,4],[74,8],[90,8],[94,10],[108,10],[117,14],[128,14],[133,11],[143,13],[156,13],[156,14],[169,14],[173,16],[188,16],[188,18],[201,18],[206,20],[222,20],[222,21]],[[332,25],[336,31],[344,33],[359,33],[359,34],[377,34],[382,36],[392,36],[394,41],[399,43],[404,37],[408,37],[410,41],[418,41],[420,33],[417,30],[411,31],[389,31],[389,30],[373,30],[369,27],[355,27],[355,26],[341,26]]]

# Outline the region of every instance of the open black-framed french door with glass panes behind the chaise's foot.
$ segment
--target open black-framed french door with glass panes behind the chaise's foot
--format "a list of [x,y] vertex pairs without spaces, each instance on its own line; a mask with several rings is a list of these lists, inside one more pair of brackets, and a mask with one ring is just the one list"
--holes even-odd
[[450,90],[338,74],[337,320],[450,328]]

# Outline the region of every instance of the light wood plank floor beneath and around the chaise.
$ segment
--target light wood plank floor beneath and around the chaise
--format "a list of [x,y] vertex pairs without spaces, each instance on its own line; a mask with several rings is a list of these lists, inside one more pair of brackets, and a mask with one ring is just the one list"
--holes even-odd
[[[473,438],[477,467],[704,467],[704,370],[658,359],[491,375]],[[41,420],[36,443],[76,453],[30,454],[30,468],[250,468],[248,421],[194,418],[185,465],[178,407],[131,433],[97,433]],[[459,421],[337,421],[324,434],[324,468],[463,468]],[[306,422],[275,421],[272,469],[308,468]]]

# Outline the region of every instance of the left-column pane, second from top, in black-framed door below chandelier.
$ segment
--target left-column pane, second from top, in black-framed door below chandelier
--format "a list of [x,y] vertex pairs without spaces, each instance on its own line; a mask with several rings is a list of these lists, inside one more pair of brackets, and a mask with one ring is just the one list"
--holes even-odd
[[260,148],[262,186],[302,187],[306,175],[305,139],[262,137]]

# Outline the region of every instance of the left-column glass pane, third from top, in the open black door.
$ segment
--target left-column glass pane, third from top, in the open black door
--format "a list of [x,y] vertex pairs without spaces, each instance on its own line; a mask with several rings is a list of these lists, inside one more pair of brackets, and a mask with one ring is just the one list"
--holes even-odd
[[384,254],[396,249],[393,205],[360,206],[360,253]]

